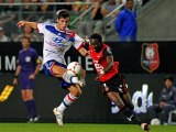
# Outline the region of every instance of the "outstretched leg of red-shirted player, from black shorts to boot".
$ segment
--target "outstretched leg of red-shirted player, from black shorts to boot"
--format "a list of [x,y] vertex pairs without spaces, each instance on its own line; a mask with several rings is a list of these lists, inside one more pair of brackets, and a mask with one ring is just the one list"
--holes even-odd
[[[106,82],[108,88],[107,96],[117,105],[120,111],[130,120],[141,125],[142,129],[148,130],[148,125],[146,123],[142,123],[141,120],[133,113],[133,105],[131,102],[131,98],[129,95],[129,90],[125,87],[125,79],[123,75],[118,74],[112,77],[109,81]],[[106,91],[106,87],[105,87]],[[127,101],[123,98],[125,95]],[[129,105],[127,105],[129,102]]]

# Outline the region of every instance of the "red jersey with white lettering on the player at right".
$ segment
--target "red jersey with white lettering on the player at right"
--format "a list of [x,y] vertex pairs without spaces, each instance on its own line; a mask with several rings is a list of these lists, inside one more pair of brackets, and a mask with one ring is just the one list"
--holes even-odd
[[[108,45],[103,44],[100,52],[94,51],[92,46],[89,45],[90,56],[92,58],[95,68],[97,70],[97,74],[99,74],[100,70],[105,69],[108,65],[107,56],[103,54],[106,50],[110,48]],[[107,81],[114,75],[117,75],[119,72],[119,62],[114,62],[114,65],[106,72],[100,78],[100,81]]]

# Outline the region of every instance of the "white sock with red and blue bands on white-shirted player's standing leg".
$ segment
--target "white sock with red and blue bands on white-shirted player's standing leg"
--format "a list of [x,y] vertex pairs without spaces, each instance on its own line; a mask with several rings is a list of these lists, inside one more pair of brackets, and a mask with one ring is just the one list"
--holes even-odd
[[67,107],[69,107],[77,99],[78,99],[78,97],[73,96],[70,92],[68,95],[66,95],[63,102],[58,107],[59,111],[64,112],[64,110]]

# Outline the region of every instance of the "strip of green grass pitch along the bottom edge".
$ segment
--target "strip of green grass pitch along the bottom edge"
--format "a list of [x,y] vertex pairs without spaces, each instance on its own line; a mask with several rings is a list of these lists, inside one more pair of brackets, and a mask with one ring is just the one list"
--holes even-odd
[[[143,132],[139,125],[133,124],[90,124],[65,123],[0,123],[0,132]],[[151,127],[150,132],[176,132],[176,125]]]

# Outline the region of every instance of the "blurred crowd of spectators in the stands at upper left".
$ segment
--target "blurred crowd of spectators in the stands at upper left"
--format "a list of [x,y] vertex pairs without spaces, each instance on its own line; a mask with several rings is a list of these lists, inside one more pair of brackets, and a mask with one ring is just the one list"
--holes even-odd
[[[142,6],[143,0],[135,0]],[[13,3],[26,4],[13,4]],[[43,4],[37,4],[37,3]],[[62,4],[52,4],[52,2],[62,2]],[[63,3],[66,4],[63,4]],[[68,4],[74,2],[74,4]],[[81,36],[89,36],[92,32],[97,32],[105,36],[103,19],[125,0],[0,0],[0,42],[20,42],[23,36],[28,36],[32,42],[42,41],[42,36],[35,33],[31,28],[16,28],[19,20],[35,22],[53,22],[55,12],[59,9],[68,9],[72,13],[70,21],[77,19],[82,12],[94,6],[90,12],[80,15],[79,20],[70,25],[72,30]],[[1,3],[10,3],[1,6]],[[34,3],[34,4],[28,4]],[[118,15],[116,11],[112,18]]]

